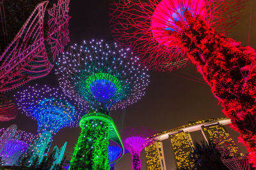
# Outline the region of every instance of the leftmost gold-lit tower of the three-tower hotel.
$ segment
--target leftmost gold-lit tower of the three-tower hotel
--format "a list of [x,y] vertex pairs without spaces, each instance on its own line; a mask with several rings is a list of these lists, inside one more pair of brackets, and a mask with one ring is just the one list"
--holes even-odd
[[155,141],[145,147],[147,169],[148,170],[166,170],[164,162],[163,143]]

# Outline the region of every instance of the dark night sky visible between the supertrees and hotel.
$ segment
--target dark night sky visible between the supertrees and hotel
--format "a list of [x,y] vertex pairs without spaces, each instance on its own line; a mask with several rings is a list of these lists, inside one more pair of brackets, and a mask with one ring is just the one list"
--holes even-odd
[[[252,0],[253,1],[253,0]],[[252,5],[250,1],[244,10],[244,13],[238,24],[228,35],[236,41],[241,41],[247,45],[250,11],[256,8],[256,2]],[[111,40],[112,35],[108,24],[108,1],[107,0],[72,0],[70,2],[70,39],[71,43],[82,41],[106,39]],[[252,25],[250,32],[250,45],[256,47],[256,11],[252,11]],[[190,76],[184,74],[188,73]],[[179,125],[186,124],[194,120],[203,118],[224,117],[221,112],[221,106],[218,106],[217,99],[211,94],[211,89],[204,83],[189,80],[200,74],[196,73],[195,66],[189,64],[170,73],[150,72],[150,85],[146,96],[136,104],[127,107],[126,110],[117,110],[113,112],[113,118],[120,127],[129,127],[132,125],[143,125],[152,127],[156,131],[166,131]],[[186,76],[184,78],[183,76]],[[58,85],[54,73],[40,80],[31,81],[33,83],[48,83]],[[15,91],[13,91],[15,92]],[[9,93],[10,95],[13,92]],[[125,114],[124,114],[125,113]],[[124,116],[125,115],[125,116]],[[124,122],[123,122],[124,121]],[[17,124],[19,129],[36,133],[37,125],[31,118],[25,117],[21,113],[15,120],[1,123],[0,127],[8,127]],[[228,132],[237,140],[238,134],[227,127]],[[72,152],[79,136],[80,128],[61,129],[55,136],[52,148],[68,142],[67,151]],[[196,141],[203,139],[200,132],[192,134]],[[244,151],[244,147],[241,147]],[[164,155],[167,169],[174,169],[172,150],[168,140],[164,141]],[[126,154],[116,163],[116,169],[132,169],[131,155]],[[142,169],[145,169],[145,153],[141,153]]]

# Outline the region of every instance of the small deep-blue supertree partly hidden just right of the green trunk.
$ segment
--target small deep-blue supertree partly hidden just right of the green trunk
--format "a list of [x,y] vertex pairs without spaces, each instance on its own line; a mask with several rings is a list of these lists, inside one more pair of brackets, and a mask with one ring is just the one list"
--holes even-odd
[[[116,158],[120,155],[122,148],[120,146],[117,146],[113,142],[109,142],[108,146],[108,160],[109,162],[113,162],[113,160],[116,160]],[[115,162],[109,165],[110,170],[115,170]]]

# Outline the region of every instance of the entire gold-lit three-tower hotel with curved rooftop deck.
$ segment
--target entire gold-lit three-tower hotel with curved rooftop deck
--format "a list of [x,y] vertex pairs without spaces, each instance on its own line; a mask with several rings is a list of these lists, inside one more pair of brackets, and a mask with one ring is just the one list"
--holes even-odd
[[[196,131],[202,131],[206,141],[218,139],[219,143],[223,143],[225,145],[228,144],[228,148],[231,150],[231,156],[243,155],[242,153],[239,153],[236,143],[232,138],[230,138],[230,135],[223,126],[228,124],[230,124],[230,119],[228,118],[211,118],[207,120],[189,122],[186,125],[154,134],[154,136],[151,136],[148,140],[154,140],[157,142],[145,148],[147,169],[166,170],[164,155],[159,154],[163,153],[163,146],[159,147],[159,145],[156,145],[159,141],[166,139],[170,140],[177,169],[191,169],[194,165],[194,162],[190,157],[193,152],[193,141],[189,133]],[[158,150],[161,150],[161,152],[157,151],[157,148]]]

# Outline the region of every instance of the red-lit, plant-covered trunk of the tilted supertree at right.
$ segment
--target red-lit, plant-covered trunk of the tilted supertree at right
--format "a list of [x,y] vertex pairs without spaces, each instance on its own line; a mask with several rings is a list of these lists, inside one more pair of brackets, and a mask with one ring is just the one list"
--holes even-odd
[[240,133],[249,159],[256,166],[256,53],[250,46],[241,46],[209,27],[204,18],[184,13],[188,24],[176,22],[182,31],[166,31],[177,39],[189,59],[211,87],[212,94]]

